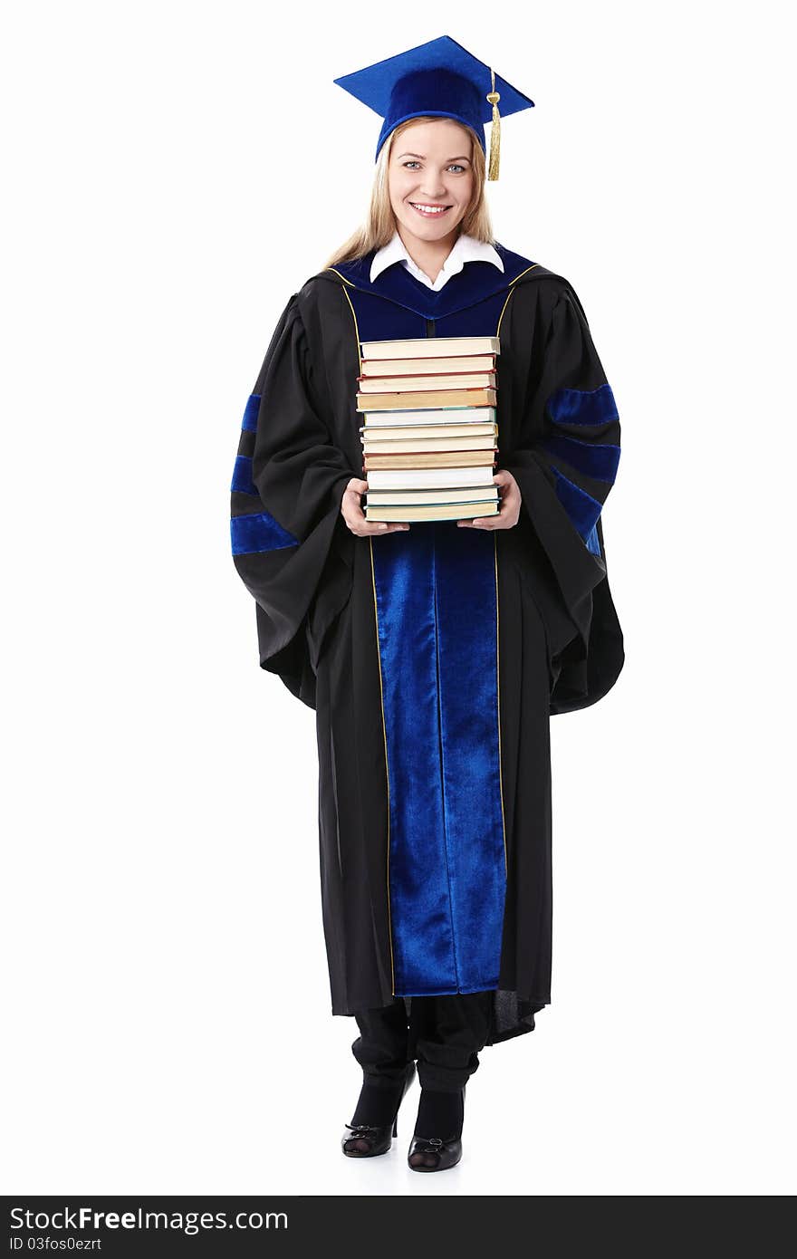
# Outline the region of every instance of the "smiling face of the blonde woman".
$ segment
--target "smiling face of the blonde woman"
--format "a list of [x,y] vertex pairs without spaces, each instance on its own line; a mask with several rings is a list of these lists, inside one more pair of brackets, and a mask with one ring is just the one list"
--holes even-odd
[[405,233],[431,243],[455,232],[473,193],[471,155],[472,140],[453,118],[417,122],[394,137],[388,191]]

